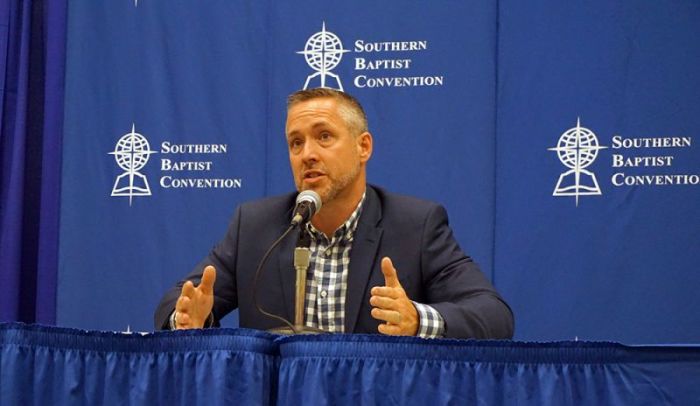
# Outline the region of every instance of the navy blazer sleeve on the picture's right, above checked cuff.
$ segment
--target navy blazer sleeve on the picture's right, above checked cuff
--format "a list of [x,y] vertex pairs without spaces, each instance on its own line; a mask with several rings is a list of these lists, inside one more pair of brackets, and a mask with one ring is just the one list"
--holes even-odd
[[513,313],[479,266],[459,247],[447,212],[435,205],[423,228],[421,269],[426,304],[445,321],[450,338],[513,337]]

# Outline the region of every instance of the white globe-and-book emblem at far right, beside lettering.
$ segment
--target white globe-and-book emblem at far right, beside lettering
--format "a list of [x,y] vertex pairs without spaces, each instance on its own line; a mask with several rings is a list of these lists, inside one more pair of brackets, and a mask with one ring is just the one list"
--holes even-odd
[[559,137],[557,146],[548,148],[556,151],[561,163],[569,168],[559,175],[553,196],[574,196],[578,207],[579,196],[602,194],[598,180],[593,172],[586,168],[598,157],[598,151],[607,147],[598,144],[593,131],[581,127],[581,119],[576,120],[576,127],[569,128]]

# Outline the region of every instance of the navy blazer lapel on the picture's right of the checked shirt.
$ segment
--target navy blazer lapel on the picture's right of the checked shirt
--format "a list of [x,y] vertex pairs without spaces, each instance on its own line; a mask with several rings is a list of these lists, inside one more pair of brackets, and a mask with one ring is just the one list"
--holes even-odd
[[[365,207],[362,209],[355,238],[350,251],[350,269],[348,271],[348,290],[345,297],[345,332],[355,330],[360,308],[365,301],[365,291],[375,263],[377,250],[382,237],[381,204],[371,186],[367,186]],[[369,306],[369,304],[367,303]]]

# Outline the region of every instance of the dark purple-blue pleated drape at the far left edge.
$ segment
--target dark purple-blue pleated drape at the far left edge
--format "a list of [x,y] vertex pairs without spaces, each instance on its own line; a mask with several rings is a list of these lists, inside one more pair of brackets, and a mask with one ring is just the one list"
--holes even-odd
[[0,5],[0,320],[54,323],[66,3]]

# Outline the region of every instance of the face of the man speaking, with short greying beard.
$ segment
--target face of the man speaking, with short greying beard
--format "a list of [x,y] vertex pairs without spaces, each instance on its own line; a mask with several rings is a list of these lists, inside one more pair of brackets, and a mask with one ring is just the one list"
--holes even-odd
[[287,146],[297,190],[313,190],[323,203],[348,196],[364,183],[371,136],[351,133],[335,99],[317,98],[292,106],[287,112]]

